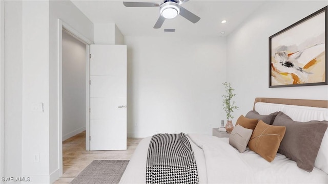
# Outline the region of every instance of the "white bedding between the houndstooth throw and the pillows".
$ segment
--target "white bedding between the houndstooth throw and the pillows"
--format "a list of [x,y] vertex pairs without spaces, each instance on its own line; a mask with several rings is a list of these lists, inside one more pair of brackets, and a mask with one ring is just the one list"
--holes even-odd
[[188,134],[202,148],[207,165],[208,183],[327,183],[327,174],[314,168],[311,173],[277,153],[269,163],[247,149],[239,153],[229,138]]

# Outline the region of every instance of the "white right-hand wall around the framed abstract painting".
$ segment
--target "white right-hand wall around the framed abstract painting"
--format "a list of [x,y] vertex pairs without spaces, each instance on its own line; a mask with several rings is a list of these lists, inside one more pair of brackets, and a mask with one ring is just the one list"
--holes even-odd
[[256,97],[328,99],[328,86],[269,88],[269,36],[327,6],[327,1],[273,1],[243,21],[227,39],[227,80],[236,92],[234,123]]

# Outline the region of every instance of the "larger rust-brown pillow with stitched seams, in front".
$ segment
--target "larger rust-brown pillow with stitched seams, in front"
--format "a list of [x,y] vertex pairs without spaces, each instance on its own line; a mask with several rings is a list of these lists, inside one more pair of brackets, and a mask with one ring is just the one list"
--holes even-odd
[[272,162],[285,131],[286,127],[284,126],[268,125],[260,120],[253,131],[248,147],[268,162]]

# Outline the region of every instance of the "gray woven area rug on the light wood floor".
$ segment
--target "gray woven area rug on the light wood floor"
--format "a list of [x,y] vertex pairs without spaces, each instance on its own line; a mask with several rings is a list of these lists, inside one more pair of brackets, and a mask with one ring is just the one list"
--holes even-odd
[[129,160],[94,160],[70,184],[118,183]]

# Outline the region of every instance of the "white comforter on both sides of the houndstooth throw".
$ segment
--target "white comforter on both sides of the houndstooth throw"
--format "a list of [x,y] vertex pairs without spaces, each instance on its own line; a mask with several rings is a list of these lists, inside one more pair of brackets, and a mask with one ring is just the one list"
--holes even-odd
[[[327,183],[328,175],[314,168],[309,173],[277,154],[269,163],[251,150],[239,153],[228,138],[188,134],[200,183]],[[151,137],[140,142],[120,183],[146,183],[147,151]]]

